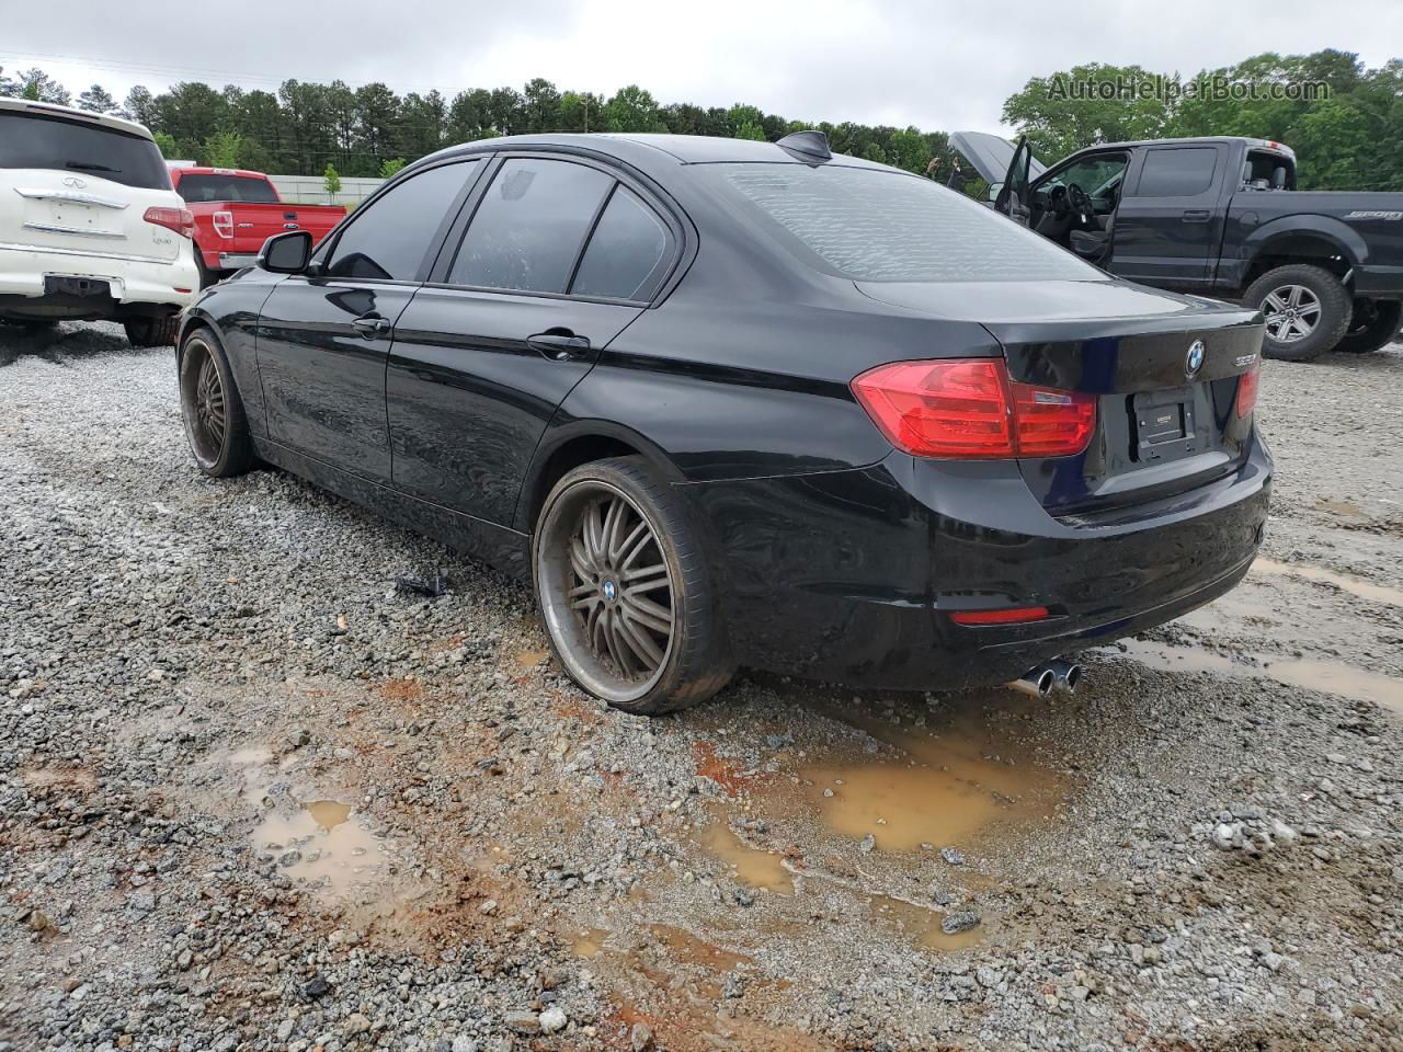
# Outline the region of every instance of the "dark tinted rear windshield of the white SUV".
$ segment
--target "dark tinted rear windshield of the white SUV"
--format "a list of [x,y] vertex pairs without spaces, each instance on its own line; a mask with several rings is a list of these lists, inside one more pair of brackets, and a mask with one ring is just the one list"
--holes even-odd
[[156,143],[100,123],[0,109],[0,168],[56,168],[143,189],[170,189]]

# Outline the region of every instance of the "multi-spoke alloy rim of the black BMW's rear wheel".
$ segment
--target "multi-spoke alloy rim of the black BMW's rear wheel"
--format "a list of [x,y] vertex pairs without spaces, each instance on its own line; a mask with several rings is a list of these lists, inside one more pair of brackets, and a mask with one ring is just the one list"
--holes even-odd
[[652,522],[622,490],[582,480],[543,529],[537,579],[561,659],[600,697],[641,697],[668,663],[676,606]]

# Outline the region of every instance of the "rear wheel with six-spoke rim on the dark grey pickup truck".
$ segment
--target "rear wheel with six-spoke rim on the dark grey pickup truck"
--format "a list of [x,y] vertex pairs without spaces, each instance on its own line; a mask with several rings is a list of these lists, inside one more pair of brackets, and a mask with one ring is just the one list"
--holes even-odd
[[1243,295],[1261,310],[1266,358],[1308,362],[1334,348],[1350,327],[1352,304],[1340,279],[1323,267],[1288,264],[1267,271]]

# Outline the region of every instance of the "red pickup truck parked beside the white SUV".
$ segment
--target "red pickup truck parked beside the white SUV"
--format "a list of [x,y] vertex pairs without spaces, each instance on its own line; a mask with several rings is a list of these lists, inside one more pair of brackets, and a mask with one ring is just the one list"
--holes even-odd
[[171,168],[175,192],[195,216],[199,288],[241,267],[253,267],[262,243],[286,230],[306,230],[313,244],[345,217],[341,205],[289,205],[261,171]]

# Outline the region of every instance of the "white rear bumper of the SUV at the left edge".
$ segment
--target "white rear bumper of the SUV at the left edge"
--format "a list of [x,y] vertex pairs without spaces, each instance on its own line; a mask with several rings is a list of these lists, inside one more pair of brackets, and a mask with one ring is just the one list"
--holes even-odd
[[[55,295],[49,278],[107,282],[111,295],[74,302]],[[194,302],[198,290],[199,274],[188,244],[170,262],[0,247],[0,313],[72,318],[150,313],[152,307],[173,313]]]

